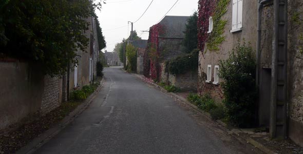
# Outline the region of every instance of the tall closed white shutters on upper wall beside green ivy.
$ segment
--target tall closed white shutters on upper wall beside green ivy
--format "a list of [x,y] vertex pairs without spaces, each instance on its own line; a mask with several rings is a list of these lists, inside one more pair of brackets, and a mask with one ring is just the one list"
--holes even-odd
[[243,0],[233,0],[233,26],[231,32],[242,29]]

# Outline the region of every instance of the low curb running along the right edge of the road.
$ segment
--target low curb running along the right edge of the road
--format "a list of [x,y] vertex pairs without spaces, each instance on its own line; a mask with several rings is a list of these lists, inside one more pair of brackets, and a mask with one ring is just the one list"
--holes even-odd
[[[131,74],[134,75],[134,76],[136,76],[136,78],[141,79],[140,78],[141,76],[139,76],[138,74],[134,74],[134,73],[131,73]],[[143,81],[143,82],[145,82],[145,81]],[[145,82],[145,83],[147,83],[147,82]],[[221,120],[214,121],[209,113],[202,111],[196,105],[194,105],[191,102],[187,101],[185,98],[180,97],[176,93],[168,92],[164,88],[162,88],[161,86],[159,86],[159,85],[157,85],[155,83],[147,83],[147,84],[150,84],[150,85],[154,86],[155,88],[159,88],[162,92],[164,92],[164,93],[166,93],[168,95],[171,95],[172,97],[175,97],[176,99],[180,100],[181,102],[183,102],[183,103],[191,106],[195,111],[198,111],[202,115],[205,115],[205,117],[208,120],[217,123],[217,125],[221,125],[222,126],[221,128],[223,128],[226,132],[228,132],[229,134],[231,134],[233,137],[235,137],[241,143],[250,143],[251,145],[255,146],[256,148],[258,148],[259,150],[261,150],[262,152],[267,153],[267,154],[277,154],[277,153],[273,152],[272,150],[270,150],[269,148],[267,148],[266,146],[262,145],[261,143],[259,143],[258,141],[254,140],[254,139],[252,139],[250,137],[242,137],[242,136],[240,136],[237,133],[237,132],[242,132],[240,129],[236,129],[237,131],[231,131],[231,130],[229,130],[227,128],[227,125],[225,123],[223,123]],[[246,141],[246,142],[244,142],[244,141]]]

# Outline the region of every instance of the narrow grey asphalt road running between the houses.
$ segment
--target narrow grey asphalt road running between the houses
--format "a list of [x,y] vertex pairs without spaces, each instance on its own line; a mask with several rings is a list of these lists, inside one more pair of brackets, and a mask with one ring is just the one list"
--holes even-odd
[[120,67],[91,105],[35,153],[255,153]]

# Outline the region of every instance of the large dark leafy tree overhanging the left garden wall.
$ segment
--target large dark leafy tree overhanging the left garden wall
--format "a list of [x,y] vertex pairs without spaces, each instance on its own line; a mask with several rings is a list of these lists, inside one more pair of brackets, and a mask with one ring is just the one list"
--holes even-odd
[[45,74],[63,74],[77,63],[75,51],[87,48],[86,19],[102,1],[1,1],[0,52],[34,62]]

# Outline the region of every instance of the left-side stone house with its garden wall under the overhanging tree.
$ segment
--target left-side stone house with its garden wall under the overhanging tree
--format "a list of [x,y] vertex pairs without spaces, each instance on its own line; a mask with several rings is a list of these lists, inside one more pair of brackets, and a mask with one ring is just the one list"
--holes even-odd
[[96,22],[93,17],[87,22],[90,44],[86,52],[77,52],[78,65],[70,66],[63,76],[44,75],[39,66],[26,60],[0,59],[0,132],[58,108],[73,90],[93,81],[99,49]]

